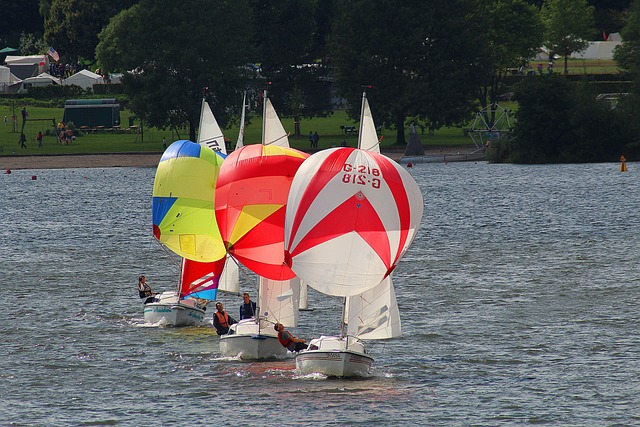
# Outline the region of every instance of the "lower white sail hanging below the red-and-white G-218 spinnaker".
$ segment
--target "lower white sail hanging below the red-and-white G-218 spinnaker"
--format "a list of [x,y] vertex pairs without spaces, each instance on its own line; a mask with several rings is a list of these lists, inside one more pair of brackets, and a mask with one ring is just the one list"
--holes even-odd
[[391,277],[375,288],[347,298],[347,335],[361,339],[387,339],[402,336],[400,311]]

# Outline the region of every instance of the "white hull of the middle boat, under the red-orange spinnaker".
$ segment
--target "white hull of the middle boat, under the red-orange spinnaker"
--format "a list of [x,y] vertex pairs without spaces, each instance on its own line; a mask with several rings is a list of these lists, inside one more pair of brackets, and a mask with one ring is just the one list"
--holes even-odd
[[287,349],[278,341],[273,326],[255,319],[244,319],[231,325],[227,335],[220,336],[220,353],[225,357],[240,357],[243,360],[261,360],[284,357]]

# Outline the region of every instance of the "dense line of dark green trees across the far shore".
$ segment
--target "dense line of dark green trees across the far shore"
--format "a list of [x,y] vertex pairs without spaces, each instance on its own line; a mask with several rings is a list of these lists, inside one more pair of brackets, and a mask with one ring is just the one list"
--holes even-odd
[[[267,83],[279,113],[296,121],[330,114],[335,98],[357,118],[368,86],[377,123],[404,143],[407,121],[464,123],[538,47],[566,58],[621,30],[633,10],[631,0],[23,0],[3,9],[14,25],[0,29],[0,43],[39,53],[53,46],[63,61],[124,72],[136,115],[160,128],[188,124],[191,138],[203,95],[223,124],[243,91],[257,98]],[[519,89],[524,104],[527,90],[551,83],[531,84]]]

